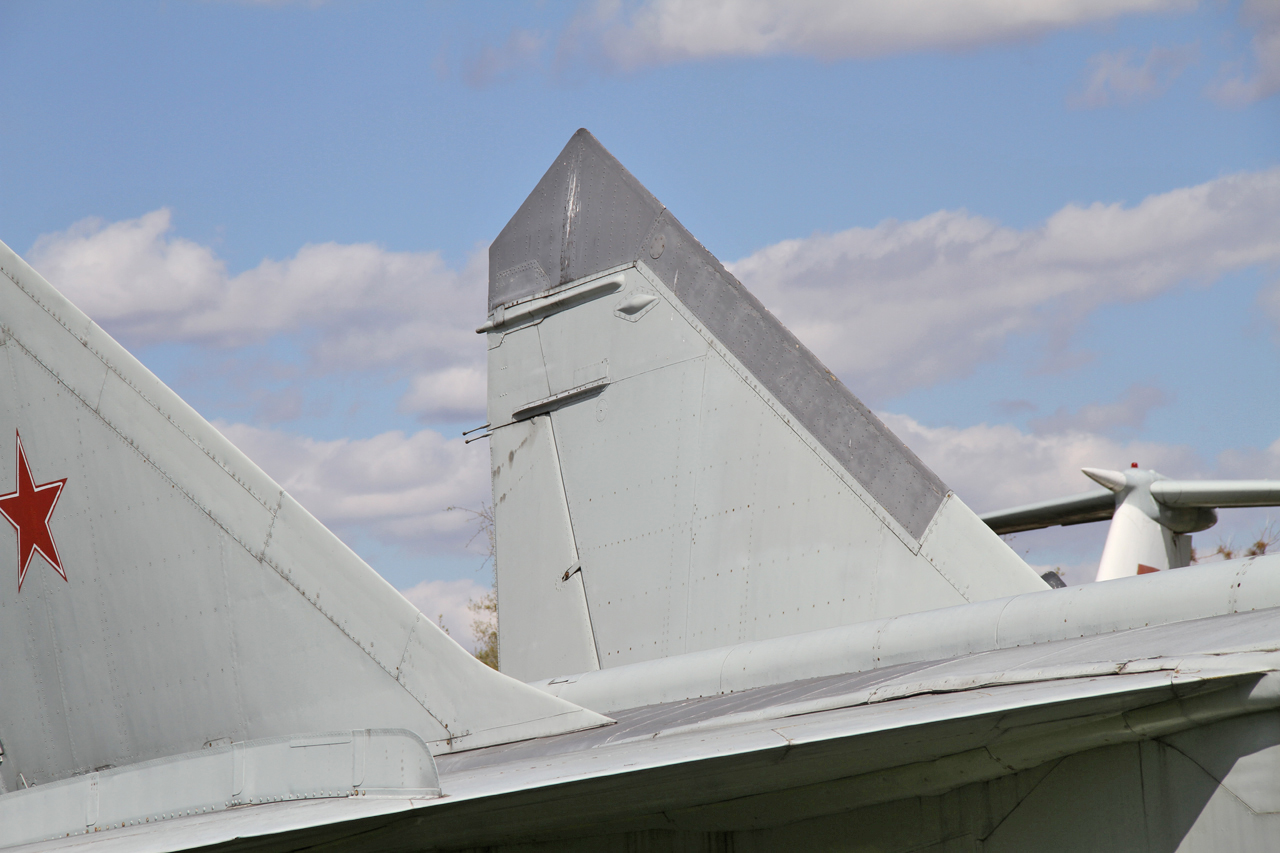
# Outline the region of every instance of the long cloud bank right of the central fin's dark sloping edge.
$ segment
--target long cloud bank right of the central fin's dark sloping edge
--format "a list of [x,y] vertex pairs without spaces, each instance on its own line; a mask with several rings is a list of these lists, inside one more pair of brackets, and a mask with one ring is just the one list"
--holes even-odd
[[1132,207],[1068,205],[1024,231],[963,210],[890,220],[782,241],[730,269],[874,398],[965,375],[1014,334],[1065,338],[1101,305],[1275,265],[1276,222],[1271,169]]

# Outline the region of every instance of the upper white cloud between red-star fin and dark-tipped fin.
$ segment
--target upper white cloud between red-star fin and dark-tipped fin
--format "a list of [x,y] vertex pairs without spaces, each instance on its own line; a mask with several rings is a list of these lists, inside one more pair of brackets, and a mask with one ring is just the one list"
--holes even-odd
[[[211,248],[172,233],[169,210],[118,223],[84,220],[45,234],[32,265],[128,347],[186,341],[230,348],[302,336],[312,369],[388,369],[408,375],[402,407],[476,416],[483,377],[484,252],[451,269],[439,252],[393,252],[371,243],[303,246],[229,275]],[[435,401],[430,393],[447,394]]]

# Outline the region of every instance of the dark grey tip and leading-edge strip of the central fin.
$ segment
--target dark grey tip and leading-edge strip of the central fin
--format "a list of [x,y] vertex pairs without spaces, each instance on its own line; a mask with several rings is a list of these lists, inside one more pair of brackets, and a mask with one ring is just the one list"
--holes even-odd
[[946,484],[585,128],[489,247],[489,311],[640,260],[911,537],[924,535]]

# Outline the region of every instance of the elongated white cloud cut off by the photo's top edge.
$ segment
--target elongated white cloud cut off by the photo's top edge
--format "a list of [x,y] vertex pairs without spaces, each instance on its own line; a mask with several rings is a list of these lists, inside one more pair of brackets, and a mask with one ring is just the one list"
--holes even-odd
[[778,54],[852,59],[1039,36],[1196,0],[607,0],[580,14],[562,53],[623,68]]

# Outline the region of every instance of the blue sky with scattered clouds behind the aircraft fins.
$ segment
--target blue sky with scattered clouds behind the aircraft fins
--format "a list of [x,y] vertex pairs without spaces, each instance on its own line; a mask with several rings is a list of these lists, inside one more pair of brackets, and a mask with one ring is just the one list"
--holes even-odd
[[0,240],[463,642],[486,250],[579,127],[974,510],[1280,478],[1274,0],[6,0],[0,115]]

